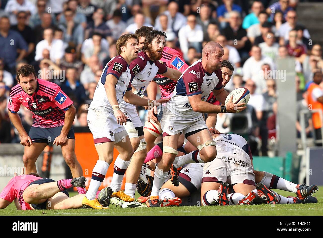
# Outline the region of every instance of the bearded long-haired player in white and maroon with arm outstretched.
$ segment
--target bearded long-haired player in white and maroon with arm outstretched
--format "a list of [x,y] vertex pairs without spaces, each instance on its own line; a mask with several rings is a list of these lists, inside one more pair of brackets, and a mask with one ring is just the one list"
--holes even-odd
[[[139,52],[138,57],[130,63],[129,68],[134,74],[131,83],[133,93],[140,96],[142,99],[148,99],[143,93],[149,83],[155,78],[156,74],[161,74],[164,77],[175,81],[177,81],[181,75],[180,71],[169,68],[159,61],[162,57],[165,42],[166,35],[164,32],[157,30],[148,32],[145,37],[144,45],[141,47],[141,52]],[[161,100],[168,101],[168,99]],[[141,166],[147,155],[147,143],[144,139],[143,126],[137,114],[136,107],[127,101],[122,101],[120,103],[120,108],[124,114],[129,117],[127,119],[127,124],[125,124],[124,127],[128,132],[133,150],[135,151],[126,176],[125,194],[134,198]]]

